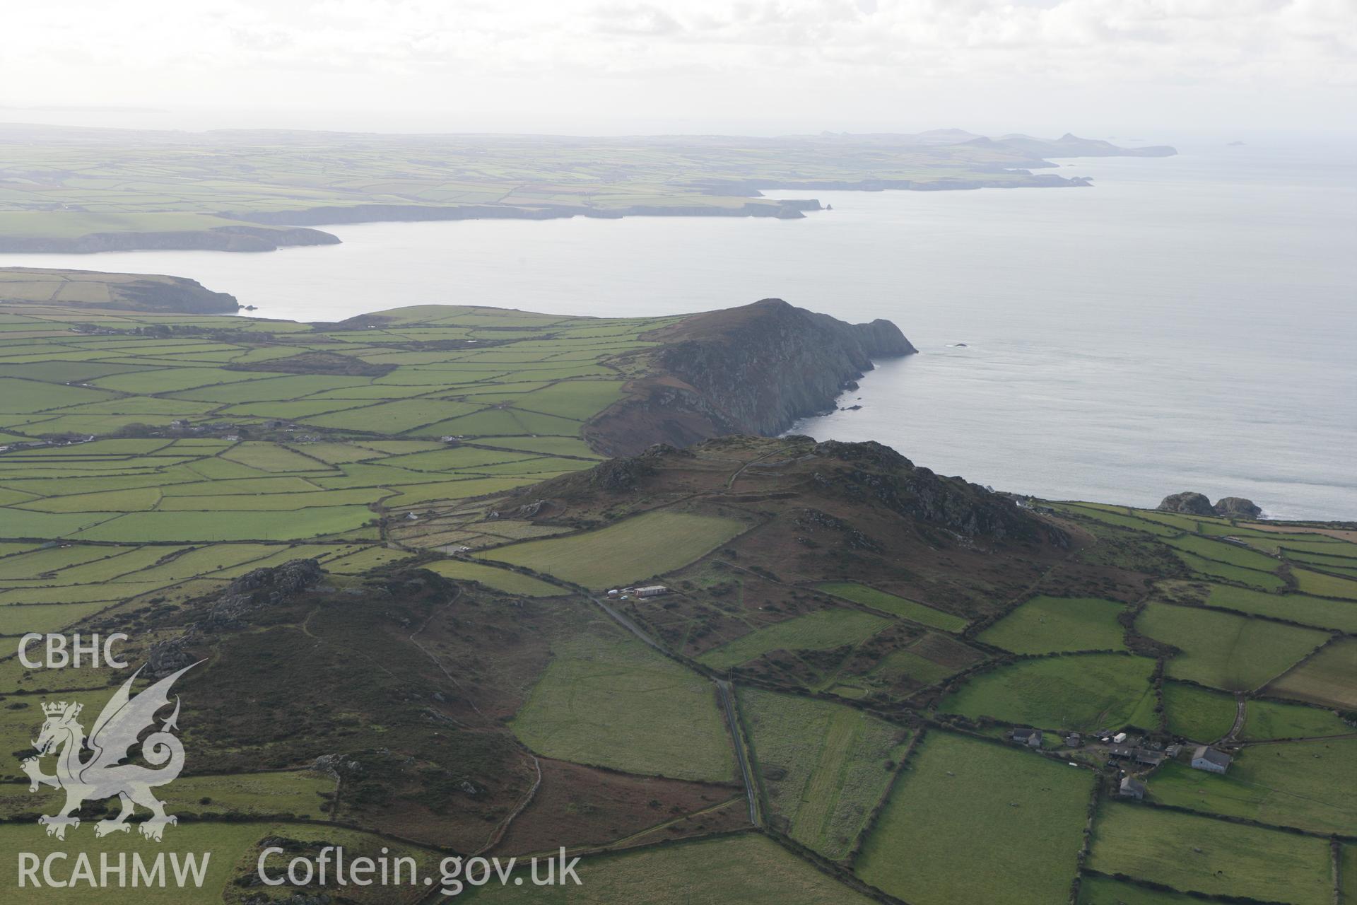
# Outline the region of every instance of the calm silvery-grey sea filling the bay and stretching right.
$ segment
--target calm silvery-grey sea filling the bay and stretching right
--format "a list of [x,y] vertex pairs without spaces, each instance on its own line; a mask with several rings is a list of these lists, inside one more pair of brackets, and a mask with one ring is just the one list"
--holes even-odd
[[[334,227],[273,254],[0,255],[0,266],[193,277],[256,316],[413,304],[573,315],[776,296],[889,317],[881,362],[797,427],[879,440],[1004,490],[1152,505],[1200,490],[1274,517],[1357,520],[1357,155],[1181,147],[1063,161],[1092,189],[816,194],[806,220]],[[962,345],[963,343],[963,345]]]

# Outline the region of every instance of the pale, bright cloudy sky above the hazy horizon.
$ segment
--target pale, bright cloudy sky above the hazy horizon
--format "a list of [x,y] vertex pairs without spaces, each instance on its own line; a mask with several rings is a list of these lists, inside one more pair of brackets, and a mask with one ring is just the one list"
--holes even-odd
[[1357,129],[1357,0],[7,0],[0,121]]

